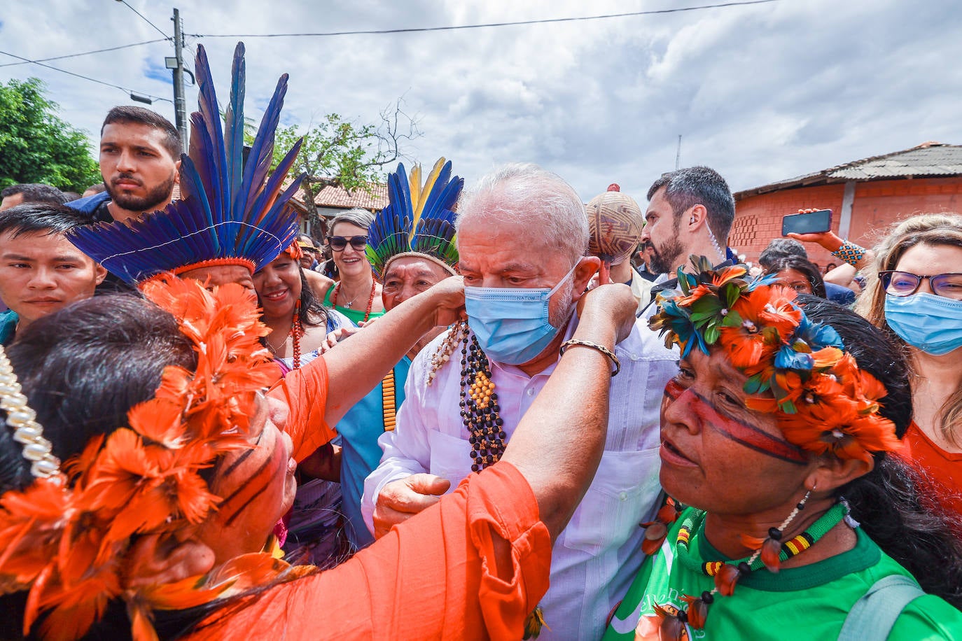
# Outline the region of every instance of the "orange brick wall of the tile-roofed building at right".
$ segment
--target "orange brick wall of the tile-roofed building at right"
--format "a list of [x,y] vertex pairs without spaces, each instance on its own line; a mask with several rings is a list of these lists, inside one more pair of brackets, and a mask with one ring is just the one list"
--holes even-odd
[[[803,209],[832,210],[832,230],[839,231],[845,185],[781,189],[738,201],[728,245],[754,262],[772,238],[781,236],[782,216]],[[889,226],[916,214],[962,211],[962,177],[873,181],[855,185],[848,238],[871,247]],[[820,267],[838,262],[818,245],[806,244],[808,258]]]

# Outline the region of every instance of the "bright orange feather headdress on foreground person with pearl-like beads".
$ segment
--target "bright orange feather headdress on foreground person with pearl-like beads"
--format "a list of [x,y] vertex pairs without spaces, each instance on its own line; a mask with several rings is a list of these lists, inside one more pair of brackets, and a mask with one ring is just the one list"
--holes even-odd
[[92,438],[63,471],[0,498],[0,594],[29,592],[25,635],[46,612],[41,636],[79,638],[119,598],[135,638],[156,638],[152,609],[207,603],[289,568],[263,553],[207,577],[126,584],[125,556],[136,537],[176,532],[183,540],[217,508],[200,471],[253,447],[249,417],[257,394],[276,380],[258,340],[266,326],[241,285],[210,292],[170,277],[147,284],[144,294],[177,319],[193,343],[196,371],[167,366],[154,398],[130,409],[127,427]]

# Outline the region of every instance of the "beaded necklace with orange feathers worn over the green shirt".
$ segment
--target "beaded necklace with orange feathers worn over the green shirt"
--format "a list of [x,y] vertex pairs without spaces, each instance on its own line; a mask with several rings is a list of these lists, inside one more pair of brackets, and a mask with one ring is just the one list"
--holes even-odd
[[[807,498],[808,495],[806,495],[805,499]],[[805,499],[802,499],[802,501],[796,505],[795,510],[793,510],[792,514],[780,528],[772,528],[769,530],[769,536],[764,539],[764,543],[759,545],[752,555],[733,561],[705,561],[702,560],[696,552],[689,549],[689,542],[693,538],[693,532],[696,536],[704,536],[706,512],[694,510],[682,521],[681,527],[678,529],[675,558],[688,570],[700,572],[706,577],[714,577],[715,587],[711,590],[705,590],[698,597],[693,597],[688,594],[684,595],[682,601],[688,604],[688,609],[679,609],[676,614],[672,614],[667,608],[655,604],[655,610],[664,617],[661,628],[668,635],[668,638],[675,638],[671,635],[679,631],[681,626],[686,623],[695,629],[704,628],[705,619],[708,616],[708,606],[715,601],[715,595],[730,597],[734,594],[735,584],[739,579],[747,577],[747,575],[763,567],[768,568],[771,572],[778,571],[777,562],[772,564],[772,559],[762,559],[762,548],[765,547],[769,541],[780,542],[781,530],[784,530],[788,523],[795,518],[798,511],[804,507]],[[845,518],[846,514],[848,514],[846,505],[842,503],[832,505],[815,523],[809,526],[808,530],[803,531],[785,543],[779,543],[778,561],[788,560],[811,548],[829,530],[838,525],[838,523]],[[746,544],[750,543],[752,546],[757,542],[745,535],[743,535],[743,541]]]

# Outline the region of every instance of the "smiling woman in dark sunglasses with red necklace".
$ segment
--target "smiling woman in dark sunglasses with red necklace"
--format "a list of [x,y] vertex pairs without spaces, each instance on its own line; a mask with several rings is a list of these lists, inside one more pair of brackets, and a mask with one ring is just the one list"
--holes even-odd
[[367,210],[347,210],[331,221],[326,245],[338,266],[341,281],[324,295],[324,307],[335,308],[354,323],[366,323],[384,314],[381,284],[367,261],[367,228],[374,214]]

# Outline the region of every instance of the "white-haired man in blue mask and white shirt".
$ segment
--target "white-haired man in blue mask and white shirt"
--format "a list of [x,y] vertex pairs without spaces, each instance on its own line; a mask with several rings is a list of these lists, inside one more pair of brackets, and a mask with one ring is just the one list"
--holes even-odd
[[[411,366],[397,428],[381,436],[384,456],[365,482],[362,511],[375,536],[497,460],[560,352],[608,352],[570,340],[599,260],[585,256],[584,205],[568,184],[535,165],[506,165],[463,196],[458,215],[468,323],[436,338]],[[555,542],[542,638],[601,636],[641,563],[639,524],[659,504],[658,414],[677,357],[642,324],[609,357],[620,373],[605,452]],[[561,468],[582,453],[545,456]]]

